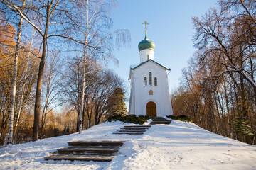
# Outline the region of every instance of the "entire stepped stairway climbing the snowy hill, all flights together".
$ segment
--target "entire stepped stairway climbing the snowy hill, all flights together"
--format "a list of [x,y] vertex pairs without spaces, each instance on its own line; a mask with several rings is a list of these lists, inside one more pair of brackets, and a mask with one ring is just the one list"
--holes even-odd
[[[170,123],[171,120],[156,117],[149,125],[124,125],[123,128],[120,128],[120,130],[117,130],[117,132],[114,132],[113,134],[143,135],[151,125]],[[73,141],[68,142],[69,147],[58,149],[55,154],[44,157],[44,159],[111,162],[123,144],[124,141],[112,140]]]

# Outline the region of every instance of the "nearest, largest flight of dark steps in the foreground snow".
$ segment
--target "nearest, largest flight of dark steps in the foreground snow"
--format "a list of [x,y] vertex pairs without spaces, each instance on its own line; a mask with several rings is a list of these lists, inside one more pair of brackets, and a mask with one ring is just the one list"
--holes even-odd
[[68,142],[70,147],[58,149],[56,151],[58,154],[44,157],[44,159],[111,162],[123,143],[124,141],[111,140]]

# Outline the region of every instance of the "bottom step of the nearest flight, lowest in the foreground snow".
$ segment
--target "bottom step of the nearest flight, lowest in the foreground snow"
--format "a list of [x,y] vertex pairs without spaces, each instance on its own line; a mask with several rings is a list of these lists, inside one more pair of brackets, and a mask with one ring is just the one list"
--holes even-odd
[[113,156],[105,155],[78,155],[78,154],[55,154],[49,157],[44,157],[44,159],[49,160],[70,160],[70,161],[94,161],[94,162],[111,162]]

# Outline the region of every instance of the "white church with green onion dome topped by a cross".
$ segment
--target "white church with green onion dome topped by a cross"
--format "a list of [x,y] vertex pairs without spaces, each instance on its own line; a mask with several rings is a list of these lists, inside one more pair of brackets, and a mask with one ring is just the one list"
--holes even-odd
[[[146,21],[143,23],[146,25]],[[154,42],[145,38],[138,45],[139,65],[131,65],[129,115],[173,115],[169,94],[168,74],[171,69],[154,61]]]

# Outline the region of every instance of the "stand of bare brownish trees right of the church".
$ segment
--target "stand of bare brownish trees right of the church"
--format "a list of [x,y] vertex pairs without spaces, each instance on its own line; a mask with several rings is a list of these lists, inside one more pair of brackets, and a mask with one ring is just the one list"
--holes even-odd
[[198,51],[173,94],[174,114],[212,132],[255,143],[255,1],[219,1],[193,18]]

